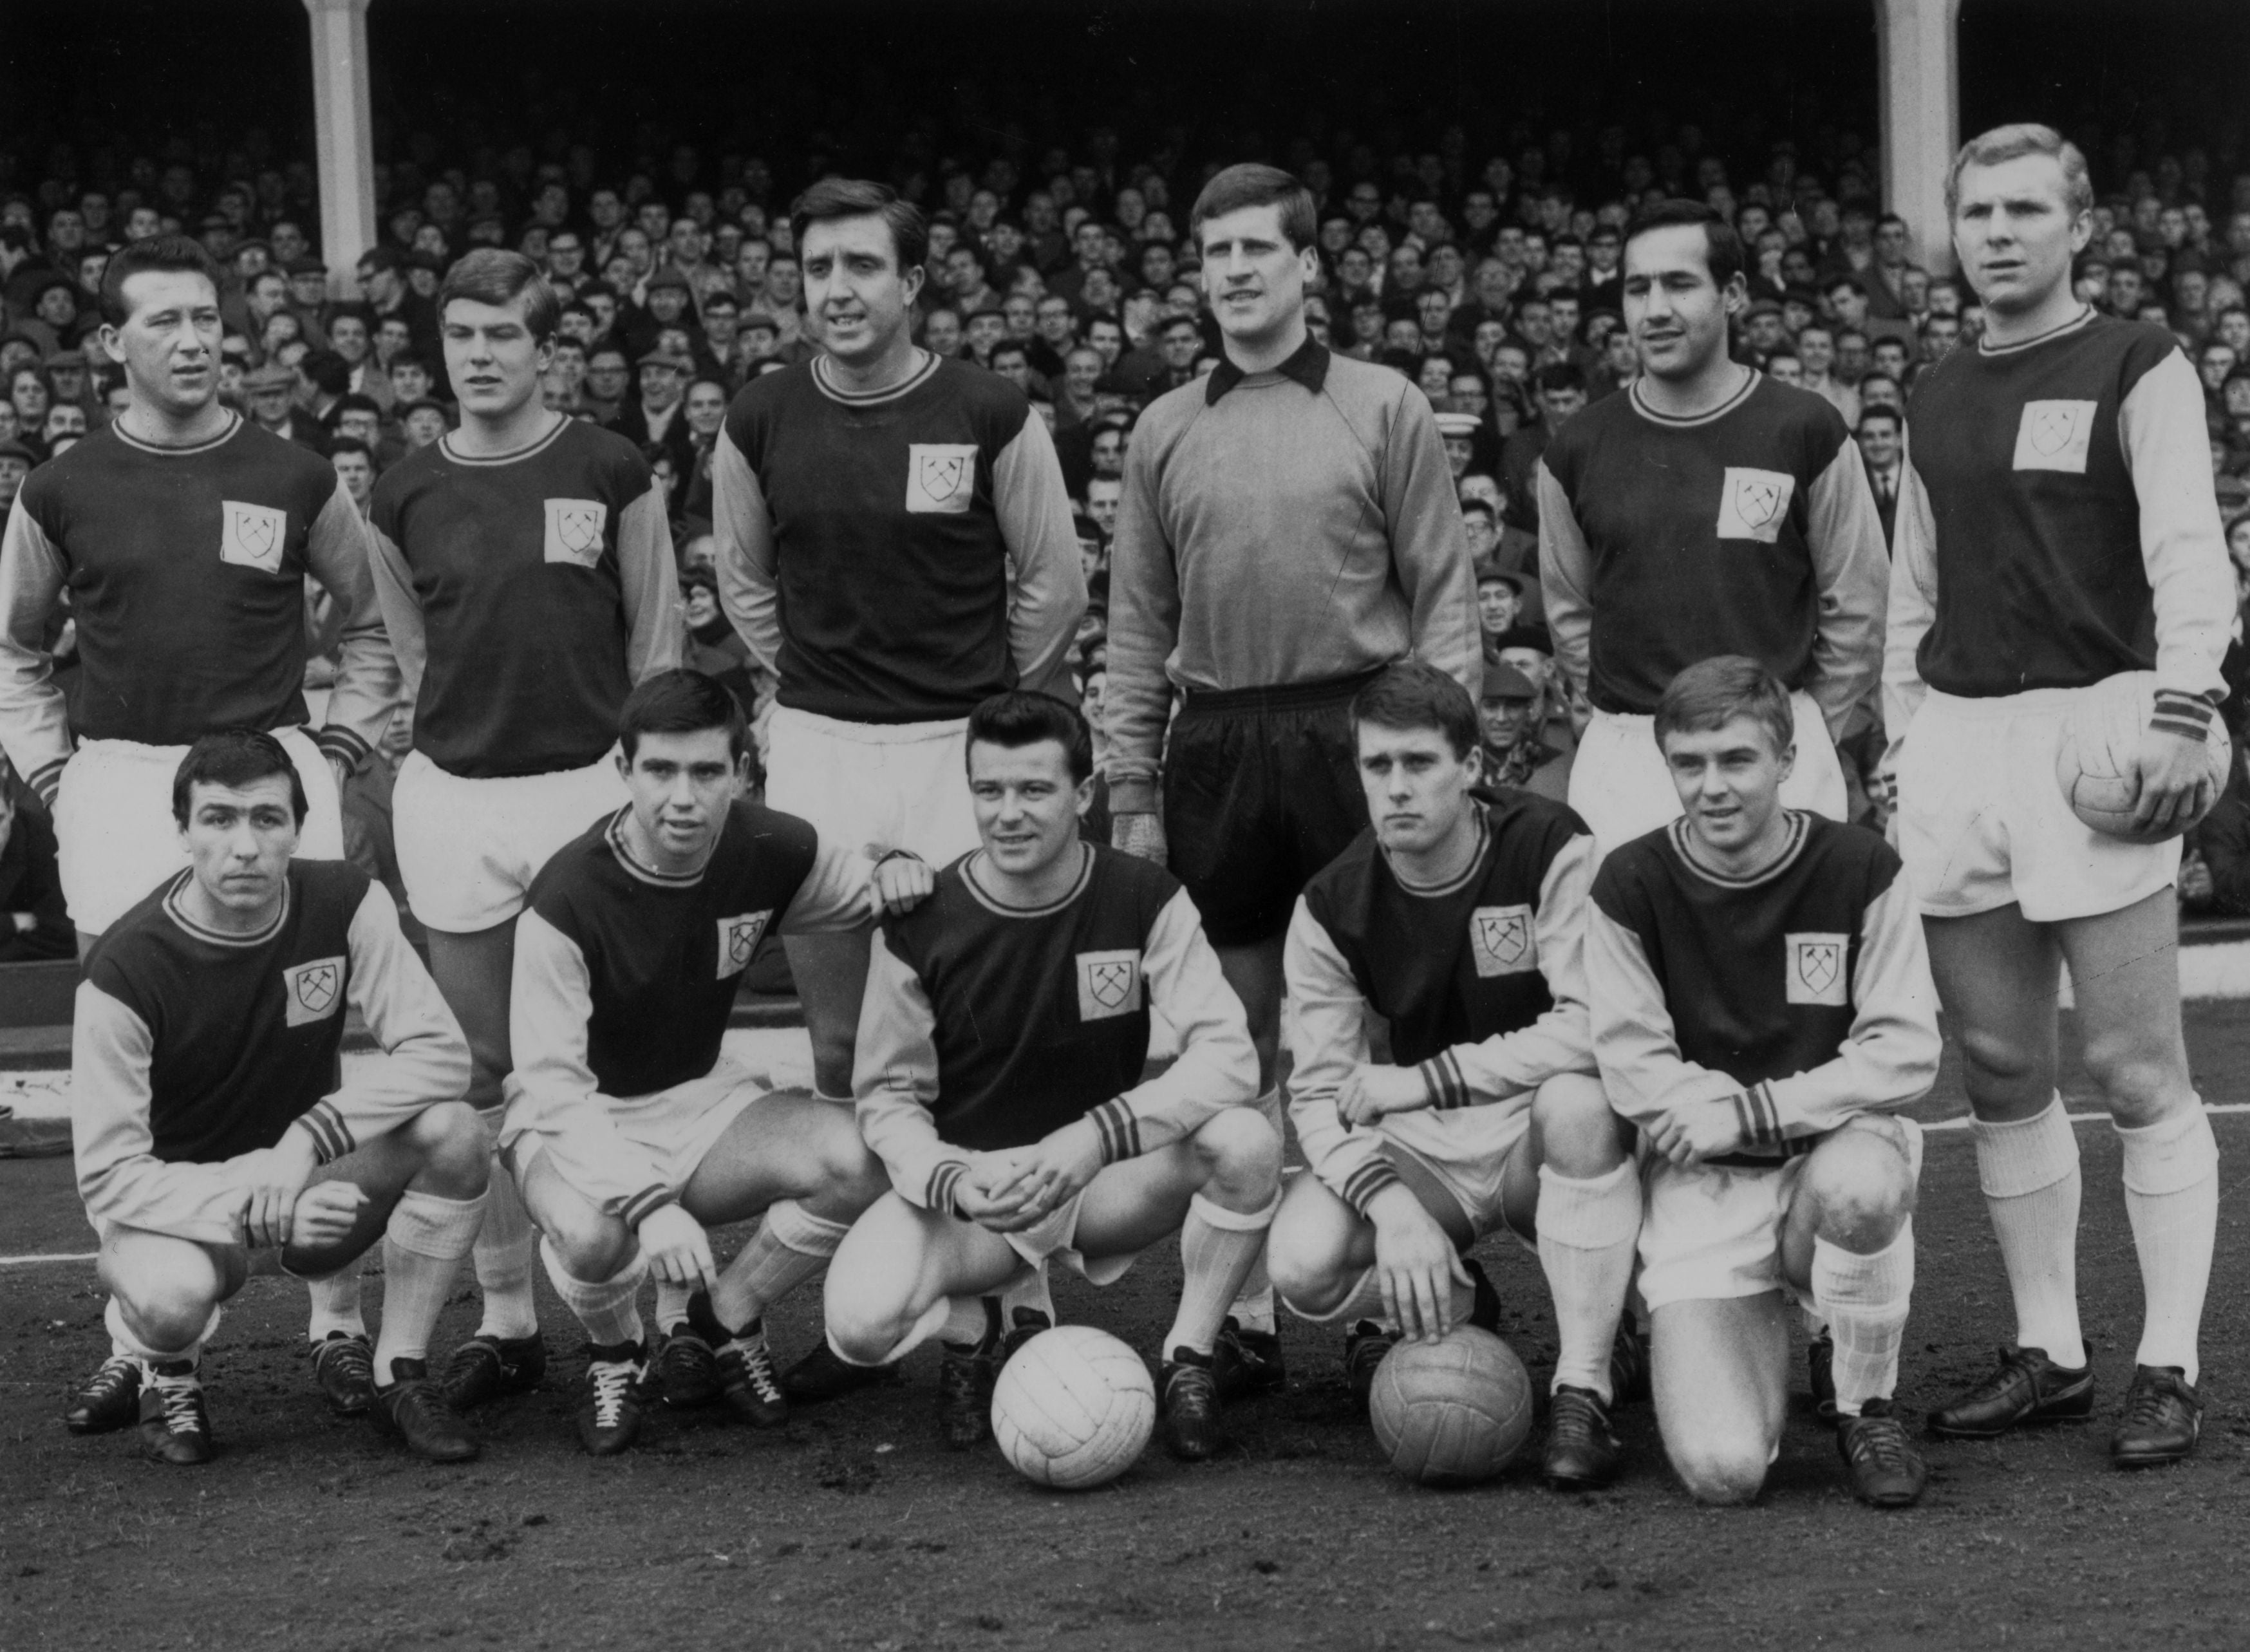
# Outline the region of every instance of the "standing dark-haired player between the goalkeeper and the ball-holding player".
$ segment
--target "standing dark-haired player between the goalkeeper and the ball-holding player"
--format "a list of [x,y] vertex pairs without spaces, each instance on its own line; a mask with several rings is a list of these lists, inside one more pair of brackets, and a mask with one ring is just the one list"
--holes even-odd
[[1748,655],[1798,707],[1789,803],[1847,810],[1836,736],[1883,657],[1883,524],[1836,410],[1726,353],[1748,288],[1710,207],[1645,207],[1624,239],[1640,378],[1539,459],[1555,657],[1593,702],[1570,765],[1606,853],[1678,815],[1649,713],[1683,666]]

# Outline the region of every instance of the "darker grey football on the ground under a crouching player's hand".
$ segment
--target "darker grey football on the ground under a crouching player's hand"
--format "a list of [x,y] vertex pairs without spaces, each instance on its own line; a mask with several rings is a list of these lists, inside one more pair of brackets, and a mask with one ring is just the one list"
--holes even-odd
[[1532,1380],[1514,1348],[1476,1326],[1402,1341],[1368,1393],[1375,1443],[1420,1485],[1476,1485],[1508,1467],[1532,1431]]

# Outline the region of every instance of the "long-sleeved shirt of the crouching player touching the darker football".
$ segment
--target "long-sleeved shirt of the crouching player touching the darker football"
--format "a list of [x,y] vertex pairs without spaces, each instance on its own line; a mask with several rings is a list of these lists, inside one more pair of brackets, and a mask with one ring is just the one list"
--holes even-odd
[[[1366,833],[1289,918],[1289,1116],[1305,1164],[1359,1211],[1397,1179],[1386,1134],[1440,1161],[1472,1157],[1492,1132],[1519,1128],[1548,1078],[1593,1071],[1593,837],[1568,808],[1528,792],[1483,806],[1478,828],[1469,869],[1440,889],[1400,880]],[[1377,1017],[1390,1060],[1420,1069],[1429,1107],[1346,1125],[1336,1087],[1368,1060]]]

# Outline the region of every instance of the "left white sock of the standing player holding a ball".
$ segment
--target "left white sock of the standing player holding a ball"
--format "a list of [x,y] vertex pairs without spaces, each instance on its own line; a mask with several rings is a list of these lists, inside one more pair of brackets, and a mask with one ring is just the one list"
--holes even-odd
[[1976,1119],[1976,1175],[2016,1296],[2016,1346],[2086,1364],[2079,1332],[2079,1139],[2061,1094],[2032,1119]]

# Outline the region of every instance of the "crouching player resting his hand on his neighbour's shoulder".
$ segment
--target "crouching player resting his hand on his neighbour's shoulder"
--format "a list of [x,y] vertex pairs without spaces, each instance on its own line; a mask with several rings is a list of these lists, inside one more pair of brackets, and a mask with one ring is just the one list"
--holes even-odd
[[[520,1173],[556,1294],[590,1339],[578,1438],[596,1456],[641,1429],[641,1281],[693,1292],[666,1326],[673,1404],[724,1395],[788,1420],[765,1310],[819,1274],[882,1193],[853,1116],[767,1094],[720,1053],[767,934],[832,934],[929,894],[929,869],[742,799],[749,727],[700,671],[664,671],[619,718],[630,803],[556,851],[515,923],[502,1155]],[[711,1224],[765,1222],[724,1272]]]

